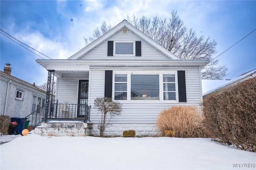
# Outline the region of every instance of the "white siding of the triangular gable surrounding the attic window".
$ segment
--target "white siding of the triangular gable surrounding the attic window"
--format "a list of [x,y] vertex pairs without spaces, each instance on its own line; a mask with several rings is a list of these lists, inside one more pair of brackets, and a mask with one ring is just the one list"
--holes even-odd
[[[108,41],[141,41],[141,57],[136,56],[107,56]],[[83,55],[80,59],[170,59],[139,36],[128,30],[128,34],[122,34],[122,30],[100,43],[94,49]]]

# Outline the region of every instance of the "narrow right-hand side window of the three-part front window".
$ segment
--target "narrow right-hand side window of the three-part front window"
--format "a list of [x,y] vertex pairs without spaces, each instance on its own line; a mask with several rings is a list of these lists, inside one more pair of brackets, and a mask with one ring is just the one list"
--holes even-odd
[[164,100],[176,100],[175,75],[163,75]]

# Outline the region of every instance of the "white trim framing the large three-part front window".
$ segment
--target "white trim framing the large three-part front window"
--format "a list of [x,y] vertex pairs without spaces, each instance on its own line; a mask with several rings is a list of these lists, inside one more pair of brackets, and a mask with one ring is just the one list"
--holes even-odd
[[[127,100],[117,100],[120,103],[178,103],[178,73],[177,71],[113,71],[113,77],[115,74],[127,74]],[[131,75],[159,75],[159,99],[160,100],[131,100]],[[163,92],[163,75],[164,74],[174,74],[175,75],[175,92],[176,100],[164,100]],[[115,95],[115,80],[112,79],[112,96],[114,99]]]

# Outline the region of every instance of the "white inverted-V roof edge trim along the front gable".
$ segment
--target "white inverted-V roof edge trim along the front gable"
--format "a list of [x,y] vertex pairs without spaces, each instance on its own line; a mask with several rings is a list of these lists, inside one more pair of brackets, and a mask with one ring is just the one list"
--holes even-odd
[[162,47],[159,43],[155,42],[152,40],[150,37],[148,37],[146,34],[141,32],[138,28],[134,27],[132,24],[130,24],[128,21],[123,20],[120,22],[118,25],[116,25],[114,28],[100,36],[98,39],[96,39],[94,42],[88,44],[86,47],[69,57],[68,59],[79,59],[82,57],[82,55],[88,53],[90,50],[92,50],[94,47],[96,47],[98,44],[104,42],[106,39],[108,39],[110,36],[114,35],[116,32],[121,30],[122,28],[128,28],[132,32],[134,32],[137,36],[142,38],[144,41],[148,42],[150,45],[164,53],[166,56],[168,56],[170,59],[177,59],[179,60],[180,58],[168,51],[166,48]]

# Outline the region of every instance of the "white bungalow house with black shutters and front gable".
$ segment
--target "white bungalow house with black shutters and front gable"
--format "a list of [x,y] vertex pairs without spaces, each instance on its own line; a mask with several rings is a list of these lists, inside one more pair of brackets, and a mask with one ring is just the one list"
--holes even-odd
[[[94,99],[105,96],[123,105],[106,135],[122,136],[124,130],[133,129],[137,136],[154,136],[159,132],[155,123],[163,109],[200,106],[200,73],[209,61],[180,59],[123,20],[68,59],[36,62],[57,77],[58,103],[68,103],[68,110],[73,104],[91,106],[87,123],[92,124],[92,134],[99,134],[100,120]],[[74,108],[68,117],[64,112],[64,117],[70,118],[73,112],[77,119],[84,116],[84,111]],[[63,117],[63,108],[56,113],[56,117]]]

